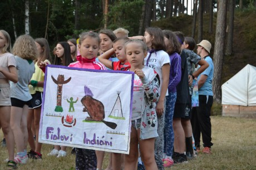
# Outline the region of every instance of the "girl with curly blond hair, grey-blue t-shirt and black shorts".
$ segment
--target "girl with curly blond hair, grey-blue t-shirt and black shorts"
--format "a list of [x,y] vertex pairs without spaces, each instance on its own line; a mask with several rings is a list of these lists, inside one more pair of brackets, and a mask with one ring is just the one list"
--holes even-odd
[[[13,138],[17,147],[17,154],[14,158],[16,163],[27,163],[27,114],[28,105],[32,96],[29,93],[28,83],[35,71],[33,60],[37,57],[35,40],[29,35],[18,37],[13,46],[13,55],[17,63],[18,82],[11,82],[11,128]],[[10,145],[14,147],[14,141]]]

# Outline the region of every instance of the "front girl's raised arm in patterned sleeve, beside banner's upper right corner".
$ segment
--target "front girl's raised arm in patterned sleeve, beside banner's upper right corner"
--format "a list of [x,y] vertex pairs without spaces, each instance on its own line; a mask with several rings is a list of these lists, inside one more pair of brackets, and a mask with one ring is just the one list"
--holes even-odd
[[159,79],[157,76],[154,78],[154,80],[150,81],[149,79],[146,78],[144,75],[143,71],[140,69],[136,69],[134,71],[137,76],[140,77],[142,88],[144,89],[147,99],[151,102],[156,102],[159,99]]

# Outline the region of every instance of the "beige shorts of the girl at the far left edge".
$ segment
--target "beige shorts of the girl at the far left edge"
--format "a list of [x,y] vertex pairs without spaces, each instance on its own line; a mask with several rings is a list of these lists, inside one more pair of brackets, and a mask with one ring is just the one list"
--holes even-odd
[[7,84],[0,84],[0,106],[11,106],[11,87]]

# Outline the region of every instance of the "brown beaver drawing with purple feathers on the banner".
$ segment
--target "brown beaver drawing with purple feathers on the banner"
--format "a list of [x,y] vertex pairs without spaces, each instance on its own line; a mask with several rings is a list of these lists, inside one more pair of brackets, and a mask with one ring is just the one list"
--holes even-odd
[[109,126],[112,129],[116,128],[116,123],[104,121],[105,110],[104,105],[101,101],[93,99],[93,94],[91,90],[85,86],[85,96],[81,99],[83,106],[83,112],[87,112],[90,117],[86,117],[86,120],[92,121],[102,121],[105,125]]

